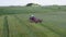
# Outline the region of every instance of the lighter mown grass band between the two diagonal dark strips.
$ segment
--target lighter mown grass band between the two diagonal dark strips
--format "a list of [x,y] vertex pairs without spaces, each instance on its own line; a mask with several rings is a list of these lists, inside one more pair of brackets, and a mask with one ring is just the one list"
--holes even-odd
[[[22,20],[23,21],[23,20]],[[24,21],[23,21],[24,22]],[[22,22],[22,23],[23,23]],[[28,25],[30,28],[32,28],[32,30],[34,32],[34,34],[37,36],[37,37],[57,37],[56,34],[54,34],[53,32],[48,30],[47,28],[43,27],[42,25],[40,24],[29,24],[28,22],[24,23],[24,25]],[[45,30],[44,30],[44,29]],[[48,32],[48,35],[47,35],[47,32]],[[53,36],[52,36],[53,35]]]

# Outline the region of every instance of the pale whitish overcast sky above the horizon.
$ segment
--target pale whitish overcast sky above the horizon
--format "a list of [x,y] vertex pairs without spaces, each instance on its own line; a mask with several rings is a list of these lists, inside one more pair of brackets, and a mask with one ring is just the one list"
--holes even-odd
[[25,5],[28,3],[38,3],[41,5],[66,5],[66,0],[0,0],[0,5]]

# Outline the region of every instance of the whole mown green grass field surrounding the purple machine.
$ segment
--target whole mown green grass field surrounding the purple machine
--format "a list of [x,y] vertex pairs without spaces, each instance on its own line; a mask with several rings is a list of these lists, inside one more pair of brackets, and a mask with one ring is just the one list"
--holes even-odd
[[[15,11],[16,10],[18,9],[15,9]],[[0,37],[66,37],[65,11],[48,12],[48,10],[47,12],[44,12],[43,10],[41,10],[38,12],[37,10],[35,10],[35,13],[30,13],[33,11],[28,11],[29,13],[6,15],[3,14],[3,12],[2,15],[0,15]],[[36,17],[42,18],[43,22],[37,24],[30,23],[29,17],[31,14],[34,14]]]

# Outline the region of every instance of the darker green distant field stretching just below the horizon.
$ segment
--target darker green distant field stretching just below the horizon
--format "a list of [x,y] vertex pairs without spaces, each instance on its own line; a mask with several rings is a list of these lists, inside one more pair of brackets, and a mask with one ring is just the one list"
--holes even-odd
[[46,13],[46,12],[66,12],[66,5],[50,7],[0,7],[0,15],[24,14],[24,13]]

